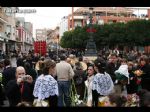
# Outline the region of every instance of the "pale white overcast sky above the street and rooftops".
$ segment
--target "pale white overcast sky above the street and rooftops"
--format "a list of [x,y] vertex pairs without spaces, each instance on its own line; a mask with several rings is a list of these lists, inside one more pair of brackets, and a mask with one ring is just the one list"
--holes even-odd
[[[79,7],[74,7],[74,11]],[[146,8],[146,7],[145,7]],[[26,22],[33,24],[33,37],[35,29],[54,29],[60,23],[61,18],[72,13],[72,7],[19,7],[19,10],[35,10],[35,13],[17,13],[16,17],[24,17]],[[146,10],[135,10],[135,14],[146,14]]]

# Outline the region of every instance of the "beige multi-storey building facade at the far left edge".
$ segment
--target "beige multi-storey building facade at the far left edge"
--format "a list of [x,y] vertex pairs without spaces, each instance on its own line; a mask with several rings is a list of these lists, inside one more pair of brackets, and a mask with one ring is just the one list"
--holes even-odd
[[0,7],[0,24],[2,35],[0,48],[6,54],[13,52],[16,49],[15,13],[11,12],[16,9],[17,7]]

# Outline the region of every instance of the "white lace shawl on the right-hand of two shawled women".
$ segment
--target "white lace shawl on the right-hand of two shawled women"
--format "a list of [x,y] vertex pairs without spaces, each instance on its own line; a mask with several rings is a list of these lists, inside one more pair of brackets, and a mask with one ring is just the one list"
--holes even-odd
[[96,90],[100,95],[109,95],[113,88],[114,84],[108,73],[97,73],[94,76],[92,90]]

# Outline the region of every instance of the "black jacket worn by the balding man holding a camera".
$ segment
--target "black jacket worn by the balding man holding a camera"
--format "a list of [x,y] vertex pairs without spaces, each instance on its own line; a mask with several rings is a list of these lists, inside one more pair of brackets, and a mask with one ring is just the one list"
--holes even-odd
[[23,93],[21,94],[21,85],[18,85],[16,80],[11,80],[6,85],[6,96],[8,97],[10,106],[16,106],[21,101],[33,102],[34,83],[24,82]]

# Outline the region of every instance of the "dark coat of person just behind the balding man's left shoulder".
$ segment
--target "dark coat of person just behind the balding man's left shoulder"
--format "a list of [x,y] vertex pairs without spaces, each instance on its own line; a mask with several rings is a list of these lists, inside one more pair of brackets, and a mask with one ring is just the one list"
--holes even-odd
[[2,84],[4,85],[4,88],[6,87],[6,84],[10,80],[16,79],[16,67],[8,67],[5,68],[2,72],[3,77],[2,77]]

